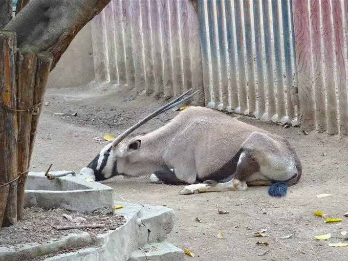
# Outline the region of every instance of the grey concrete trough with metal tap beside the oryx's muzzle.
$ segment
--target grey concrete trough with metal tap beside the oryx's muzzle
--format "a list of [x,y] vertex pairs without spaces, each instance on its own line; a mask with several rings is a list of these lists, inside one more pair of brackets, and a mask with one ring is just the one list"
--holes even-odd
[[[62,174],[65,171],[51,172]],[[98,182],[87,182],[82,175],[65,175],[52,180],[44,172],[29,172],[24,192],[24,207],[63,208],[103,214],[114,212],[113,189]]]

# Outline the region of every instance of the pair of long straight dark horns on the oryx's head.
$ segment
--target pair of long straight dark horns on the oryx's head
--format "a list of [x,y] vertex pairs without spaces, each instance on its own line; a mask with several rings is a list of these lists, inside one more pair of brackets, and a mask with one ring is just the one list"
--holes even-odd
[[[157,117],[158,115],[162,114],[163,112],[174,108],[176,105],[179,105],[181,103],[183,103],[184,101],[187,101],[189,99],[192,98],[192,96],[194,96],[199,90],[197,90],[196,92],[192,93],[191,95],[181,99],[183,96],[185,96],[187,93],[189,93],[190,91],[192,91],[192,89],[189,89],[188,91],[186,91],[185,93],[181,94],[179,97],[175,98],[173,101],[171,101],[170,103],[162,106],[159,109],[156,109],[154,112],[152,112],[151,114],[149,114],[148,116],[146,116],[144,119],[142,119],[141,121],[137,122],[136,124],[134,124],[131,128],[129,128],[128,130],[122,132],[120,135],[118,135],[112,142],[112,148],[115,148],[122,140],[124,140],[129,134],[131,134],[131,132],[135,131],[137,128],[139,128],[141,125],[147,123],[148,121],[150,121],[152,118]],[[181,99],[181,100],[180,100]]]

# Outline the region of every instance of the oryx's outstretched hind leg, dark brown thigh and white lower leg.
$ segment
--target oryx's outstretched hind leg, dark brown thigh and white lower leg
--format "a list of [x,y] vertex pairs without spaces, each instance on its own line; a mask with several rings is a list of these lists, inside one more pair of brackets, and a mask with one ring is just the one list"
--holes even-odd
[[246,190],[248,188],[246,181],[249,177],[259,172],[259,163],[255,159],[253,152],[243,151],[240,153],[237,163],[236,172],[233,178],[223,183],[199,183],[185,186],[180,195],[196,194],[202,192],[230,191],[230,190]]

